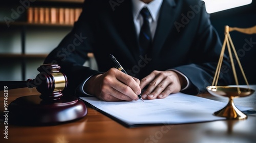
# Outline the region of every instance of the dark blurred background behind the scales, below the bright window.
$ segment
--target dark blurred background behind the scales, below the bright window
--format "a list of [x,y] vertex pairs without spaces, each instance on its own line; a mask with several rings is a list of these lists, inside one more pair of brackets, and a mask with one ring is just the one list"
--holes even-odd
[[[209,1],[209,0],[207,0]],[[219,1],[219,0],[216,0]],[[225,0],[224,0],[225,1]],[[222,1],[222,2],[224,2]],[[230,3],[241,3],[246,1],[234,0],[229,1]],[[256,26],[256,1],[249,0],[251,3],[245,6],[240,6],[236,8],[231,8],[215,13],[210,13],[210,19],[212,25],[215,27],[219,33],[220,39],[223,43],[224,41],[224,27],[228,25],[229,27],[239,27],[239,28],[250,28]],[[227,4],[228,5],[228,4]],[[208,6],[209,7],[209,6]],[[207,3],[206,3],[207,8]],[[238,57],[243,66],[245,75],[249,84],[256,84],[256,34],[247,35],[237,31],[230,32],[233,44],[236,47]],[[248,44],[248,41],[252,41],[252,44]],[[254,43],[253,43],[254,42]],[[245,47],[244,45],[247,44]],[[226,51],[227,53],[227,51]],[[228,54],[228,53],[227,53]],[[234,59],[234,56],[233,56]],[[246,84],[238,63],[234,61],[239,84]],[[235,83],[233,83],[235,84]]]

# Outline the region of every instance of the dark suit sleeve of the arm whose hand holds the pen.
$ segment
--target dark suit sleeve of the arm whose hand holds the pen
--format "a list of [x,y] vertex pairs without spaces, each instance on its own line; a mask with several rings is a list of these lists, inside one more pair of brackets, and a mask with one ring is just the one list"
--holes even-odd
[[82,66],[89,59],[87,54],[92,52],[91,45],[94,42],[91,23],[94,21],[92,13],[97,7],[94,9],[88,7],[92,6],[88,4],[91,2],[84,2],[83,11],[79,20],[74,24],[73,30],[63,38],[44,61],[44,63],[55,63],[61,66],[60,72],[68,78],[68,87],[64,90],[66,94],[74,95],[78,85],[83,84],[90,76],[100,74],[99,71]]

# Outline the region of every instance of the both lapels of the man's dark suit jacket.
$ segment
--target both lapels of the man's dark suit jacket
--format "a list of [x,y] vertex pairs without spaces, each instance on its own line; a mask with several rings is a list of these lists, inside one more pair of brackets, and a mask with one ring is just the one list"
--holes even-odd
[[[160,9],[160,16],[158,19],[158,26],[155,33],[155,38],[152,44],[152,51],[148,53],[148,57],[154,57],[161,50],[168,33],[172,28],[175,28],[173,23],[175,19],[175,0],[164,0]],[[115,8],[113,11],[115,23],[118,31],[120,31],[120,36],[127,45],[125,51],[127,54],[131,54],[135,59],[135,62],[139,61],[140,51],[139,51],[139,42],[136,35],[136,30],[133,21],[132,14],[132,2],[124,1],[120,6]],[[129,55],[129,56],[131,56]],[[128,55],[127,55],[128,56]]]

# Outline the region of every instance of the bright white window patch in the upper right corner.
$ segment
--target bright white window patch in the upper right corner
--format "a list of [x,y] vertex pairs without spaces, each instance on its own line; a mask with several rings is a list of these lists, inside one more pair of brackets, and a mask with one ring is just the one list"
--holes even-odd
[[251,4],[252,0],[202,0],[205,2],[206,11],[215,13],[231,8]]

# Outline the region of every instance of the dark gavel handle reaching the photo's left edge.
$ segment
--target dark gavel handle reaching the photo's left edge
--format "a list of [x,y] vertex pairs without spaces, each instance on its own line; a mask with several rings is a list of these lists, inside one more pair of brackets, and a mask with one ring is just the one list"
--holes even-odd
[[0,91],[4,90],[4,86],[7,86],[8,89],[28,87],[27,82],[28,81],[0,81]]

